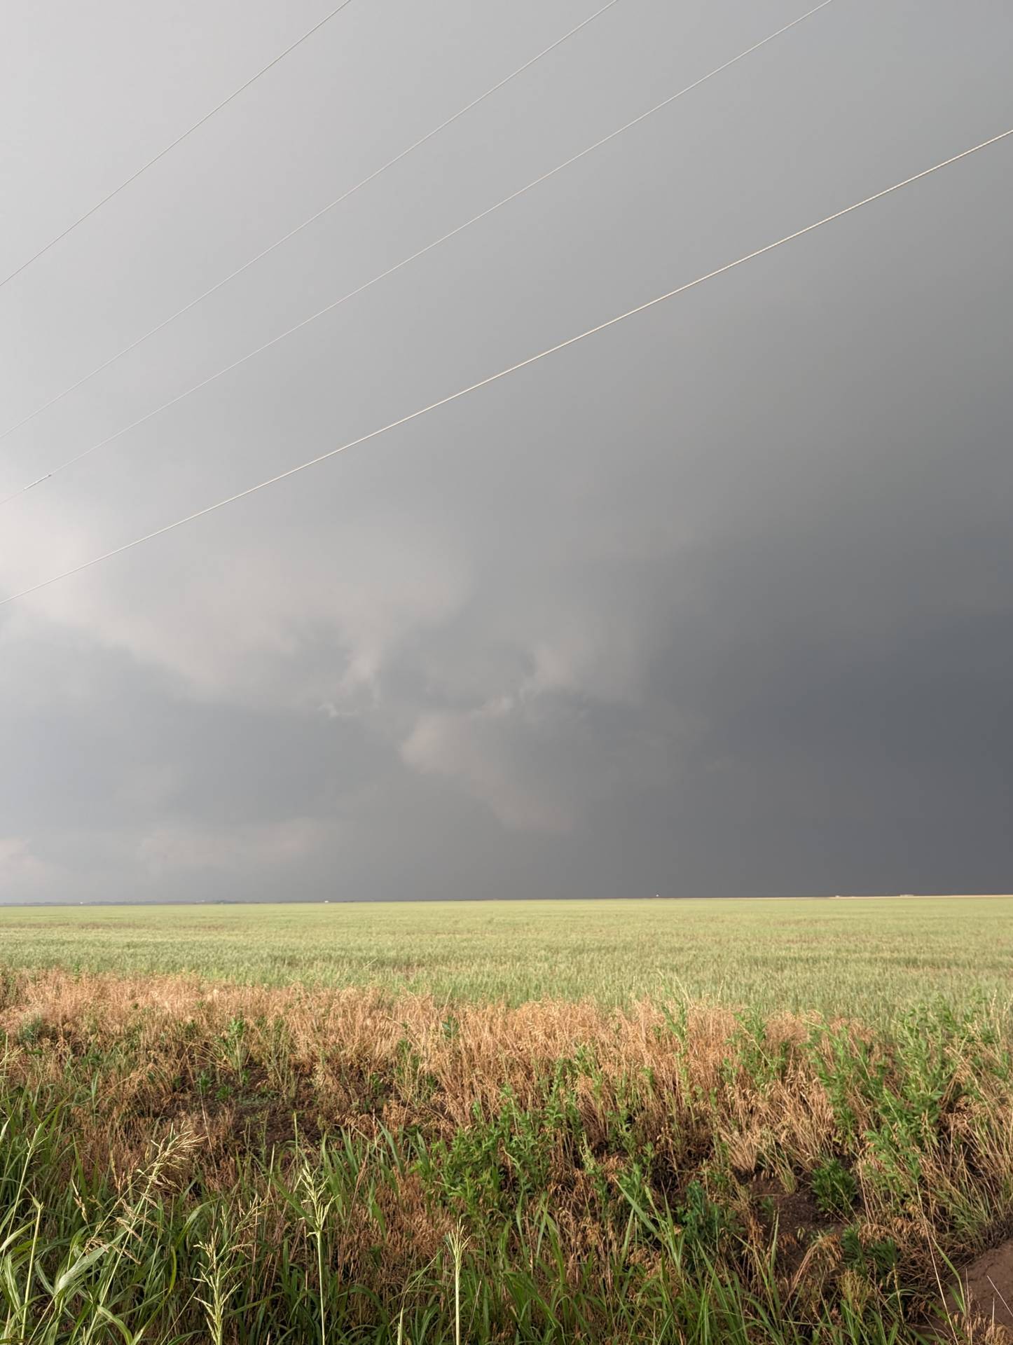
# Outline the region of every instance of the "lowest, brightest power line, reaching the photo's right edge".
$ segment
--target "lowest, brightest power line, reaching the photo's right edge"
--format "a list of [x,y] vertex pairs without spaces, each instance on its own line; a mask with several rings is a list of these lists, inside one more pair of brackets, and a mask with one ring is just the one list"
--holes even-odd
[[70,578],[73,574],[81,574],[82,570],[91,569],[94,565],[101,565],[104,561],[109,561],[114,555],[121,555],[124,551],[133,550],[135,546],[143,546],[145,542],[151,542],[156,537],[163,537],[165,533],[172,533],[178,527],[194,523],[196,519],[204,518],[207,514],[214,514],[219,508],[235,504],[238,500],[246,499],[248,495],[256,495],[258,491],[266,490],[269,486],[277,486],[278,482],[284,482],[289,476],[296,476],[299,472],[305,472],[311,467],[317,467],[320,463],[326,463],[328,459],[347,452],[350,448],[358,448],[361,444],[367,444],[370,440],[378,438],[381,434],[386,434],[391,429],[398,429],[401,425],[408,425],[410,421],[416,421],[422,416],[428,416],[430,412],[439,410],[441,406],[449,406],[451,402],[460,401],[463,397],[468,397],[471,393],[476,393],[482,387],[488,387],[491,383],[496,383],[500,379],[507,378],[510,374],[517,374],[519,370],[527,369],[530,364],[537,364],[539,360],[548,359],[549,355],[556,355],[561,350],[568,350],[570,346],[576,346],[578,342],[587,340],[588,336],[596,336],[599,332],[607,331],[609,327],[616,327],[619,323],[624,323],[630,317],[646,313],[658,304],[663,304],[669,299],[675,299],[677,295],[685,295],[687,291],[696,289],[698,285],[702,285],[709,280],[714,280],[717,276],[724,276],[729,270],[735,270],[737,266],[745,265],[745,262],[763,257],[778,247],[783,247],[786,243],[794,242],[796,238],[802,238],[806,234],[811,234],[817,229],[822,229],[823,225],[830,225],[835,219],[842,219],[845,215],[850,215],[856,210],[861,210],[864,206],[870,206],[876,200],[883,200],[884,196],[889,196],[896,191],[901,191],[904,187],[912,186],[912,183],[922,182],[922,179],[930,178],[932,174],[936,174],[943,168],[948,168],[951,164],[959,163],[970,155],[978,153],[979,149],[987,149],[990,145],[996,145],[1001,140],[1006,140],[1009,136],[1013,136],[1013,128],[1004,130],[997,136],[991,136],[989,140],[982,140],[977,145],[971,145],[967,149],[962,149],[961,153],[952,155],[950,159],[944,159],[942,163],[934,164],[931,168],[924,168],[922,172],[913,174],[911,178],[904,178],[901,182],[896,182],[891,187],[884,187],[883,191],[877,191],[872,196],[865,196],[862,200],[857,200],[852,206],[845,206],[843,210],[837,210],[831,215],[825,215],[822,219],[817,219],[814,223],[806,225],[803,229],[796,229],[794,233],[786,234],[783,238],[778,238],[772,243],[765,243],[755,252],[745,253],[743,257],[737,257],[735,261],[729,261],[724,266],[718,266],[716,270],[709,270],[704,276],[697,276],[696,280],[686,281],[686,284],[678,285],[675,289],[670,289],[663,295],[658,295],[655,299],[650,299],[644,304],[628,308],[626,312],[619,313],[615,317],[609,317],[604,323],[599,323],[596,327],[589,327],[587,331],[578,332],[576,336],[569,336],[566,340],[558,342],[556,346],[549,346],[546,350],[538,351],[535,355],[529,355],[527,359],[518,360],[518,363],[510,364],[507,369],[500,369],[499,373],[490,374],[487,378],[482,378],[476,383],[470,383],[467,387],[461,387],[459,391],[451,393],[448,397],[441,397],[439,401],[429,402],[428,406],[421,406],[418,410],[410,412],[408,416],[401,416],[398,420],[389,421],[386,425],[381,425],[378,429],[370,430],[369,434],[362,434],[359,438],[352,438],[344,444],[339,444],[338,448],[331,448],[326,453],[320,453],[317,457],[311,457],[308,461],[300,463],[297,467],[289,467],[287,471],[278,472],[276,476],[269,476],[266,480],[258,482],[256,486],[248,486],[246,490],[237,491],[235,495],[227,495],[225,499],[217,500],[214,504],[206,504],[203,508],[199,508],[192,514],[186,514],[183,518],[178,518],[172,523],[164,523],[161,527],[156,527],[153,531],[145,533],[143,537],[136,537],[132,542],[124,542],[122,546],[116,546],[112,551],[104,551],[101,555],[94,555],[89,561],[82,561],[81,565],[74,565],[71,569],[63,570],[61,574],[52,574],[50,578],[42,580],[39,584],[32,584],[30,588],[22,589],[19,593],[11,593],[8,597],[0,599],[0,607],[7,607],[9,603],[27,597],[30,593],[38,593],[39,589],[48,588],[51,584],[58,584],[61,580]]

